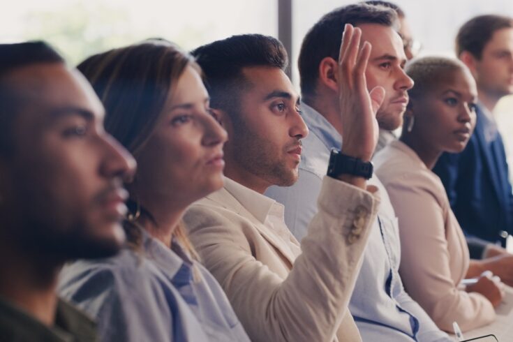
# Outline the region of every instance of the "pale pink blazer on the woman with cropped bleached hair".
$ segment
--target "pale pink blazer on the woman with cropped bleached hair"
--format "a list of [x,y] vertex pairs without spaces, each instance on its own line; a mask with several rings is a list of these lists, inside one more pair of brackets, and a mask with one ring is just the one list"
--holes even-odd
[[459,290],[470,257],[442,181],[406,144],[397,140],[373,159],[399,220],[401,267],[406,290],[447,332],[495,319],[493,306],[477,292]]

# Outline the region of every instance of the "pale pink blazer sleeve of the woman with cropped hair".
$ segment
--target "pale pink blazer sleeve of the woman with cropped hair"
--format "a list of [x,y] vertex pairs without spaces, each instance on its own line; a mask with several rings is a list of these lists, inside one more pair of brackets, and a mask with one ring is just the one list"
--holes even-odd
[[[433,192],[437,189],[436,184],[418,174],[387,184],[399,218],[401,278],[411,297],[440,329],[450,332],[456,321],[466,331],[491,322],[495,312],[484,296],[459,290],[453,280],[457,276],[451,274],[451,258],[457,255],[449,253],[449,228],[443,205]],[[462,244],[466,248],[464,241]]]

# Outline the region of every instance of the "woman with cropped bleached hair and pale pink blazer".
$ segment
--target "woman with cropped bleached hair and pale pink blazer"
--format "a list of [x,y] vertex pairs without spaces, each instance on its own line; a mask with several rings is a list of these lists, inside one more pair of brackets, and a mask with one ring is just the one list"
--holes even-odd
[[[376,174],[399,219],[401,278],[406,290],[447,332],[492,322],[503,297],[498,279],[471,261],[442,182],[431,169],[444,151],[460,152],[475,126],[475,81],[464,64],[424,57],[406,67],[415,86],[400,140],[376,154]],[[466,288],[463,278],[477,277]]]

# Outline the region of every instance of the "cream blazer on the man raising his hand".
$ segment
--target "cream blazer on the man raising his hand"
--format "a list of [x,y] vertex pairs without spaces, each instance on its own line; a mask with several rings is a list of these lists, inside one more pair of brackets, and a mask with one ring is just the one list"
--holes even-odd
[[226,188],[191,206],[188,236],[252,341],[361,341],[348,302],[379,204],[369,190],[325,177],[301,250]]

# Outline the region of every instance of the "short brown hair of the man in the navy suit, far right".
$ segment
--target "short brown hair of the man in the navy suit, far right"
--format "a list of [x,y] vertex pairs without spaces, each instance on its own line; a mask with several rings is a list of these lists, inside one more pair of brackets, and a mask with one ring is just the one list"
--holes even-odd
[[513,19],[503,15],[479,15],[468,20],[456,36],[456,56],[468,51],[476,59],[481,59],[484,45],[495,31],[512,28]]

